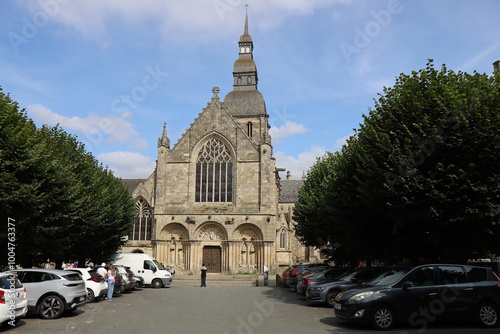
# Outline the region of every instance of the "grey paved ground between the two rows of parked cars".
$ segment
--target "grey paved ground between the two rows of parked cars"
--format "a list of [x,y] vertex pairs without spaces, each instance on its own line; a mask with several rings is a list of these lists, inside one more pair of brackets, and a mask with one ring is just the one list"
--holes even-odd
[[[215,283],[215,282],[212,282]],[[371,333],[366,326],[339,322],[330,308],[311,306],[303,296],[281,287],[174,286],[145,288],[89,303],[56,320],[30,316],[9,334],[173,333],[173,334],[291,334]],[[452,325],[418,330],[398,328],[392,333],[498,333],[474,326]]]

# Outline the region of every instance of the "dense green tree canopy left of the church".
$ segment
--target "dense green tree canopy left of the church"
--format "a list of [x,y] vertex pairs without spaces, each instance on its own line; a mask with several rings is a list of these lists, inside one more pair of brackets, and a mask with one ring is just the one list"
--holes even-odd
[[15,236],[0,240],[16,264],[98,261],[121,246],[133,210],[122,182],[82,143],[58,126],[37,128],[0,89],[0,233]]

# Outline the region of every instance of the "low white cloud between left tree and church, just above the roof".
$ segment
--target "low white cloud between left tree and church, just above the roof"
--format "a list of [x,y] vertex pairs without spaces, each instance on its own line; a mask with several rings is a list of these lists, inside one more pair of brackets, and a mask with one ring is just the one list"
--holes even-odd
[[134,152],[102,153],[97,159],[108,166],[116,177],[124,179],[145,179],[154,171],[155,161]]

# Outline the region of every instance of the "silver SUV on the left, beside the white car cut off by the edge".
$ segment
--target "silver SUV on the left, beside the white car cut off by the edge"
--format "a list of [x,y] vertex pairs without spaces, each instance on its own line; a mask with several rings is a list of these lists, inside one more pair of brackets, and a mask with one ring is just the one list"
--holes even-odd
[[28,310],[44,319],[56,319],[85,304],[87,291],[82,276],[74,271],[58,269],[16,269],[26,288]]

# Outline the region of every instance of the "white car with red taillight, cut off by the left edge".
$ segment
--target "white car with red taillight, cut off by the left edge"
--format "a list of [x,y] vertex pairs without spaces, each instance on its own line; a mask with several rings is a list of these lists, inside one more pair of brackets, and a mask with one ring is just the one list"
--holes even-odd
[[27,312],[26,288],[17,275],[0,273],[0,325],[15,324]]

